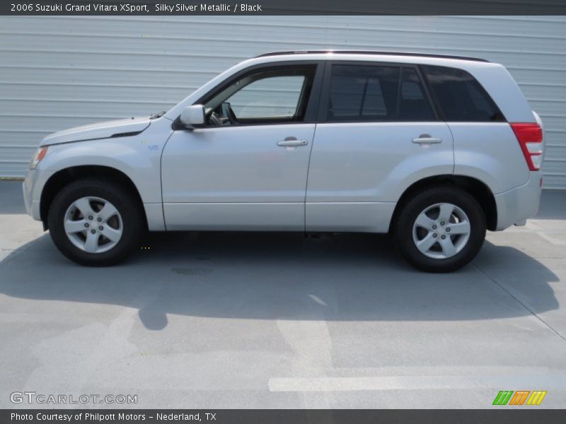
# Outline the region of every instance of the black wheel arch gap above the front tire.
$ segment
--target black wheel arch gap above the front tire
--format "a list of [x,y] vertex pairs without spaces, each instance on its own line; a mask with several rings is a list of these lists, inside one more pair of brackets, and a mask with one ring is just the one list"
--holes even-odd
[[146,211],[139,194],[139,189],[130,177],[114,167],[104,165],[79,165],[59,170],[47,179],[47,182],[45,182],[45,186],[42,189],[40,197],[40,218],[43,223],[44,230],[48,229],[47,215],[49,213],[51,203],[57,193],[69,184],[69,182],[73,182],[76,181],[76,179],[84,177],[109,179],[113,183],[120,184],[122,187],[131,192],[134,195],[140,210],[143,211],[145,225],[147,227]]

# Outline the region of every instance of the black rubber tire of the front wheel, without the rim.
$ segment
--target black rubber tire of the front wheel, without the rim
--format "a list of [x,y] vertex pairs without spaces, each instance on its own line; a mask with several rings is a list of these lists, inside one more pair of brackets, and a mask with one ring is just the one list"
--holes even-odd
[[[86,252],[76,247],[67,237],[64,228],[67,209],[74,201],[86,196],[109,201],[120,214],[122,236],[115,246],[106,252]],[[144,213],[134,194],[120,184],[96,178],[79,179],[63,187],[52,201],[47,224],[57,249],[71,261],[86,266],[108,266],[122,261],[139,246],[146,232]]]

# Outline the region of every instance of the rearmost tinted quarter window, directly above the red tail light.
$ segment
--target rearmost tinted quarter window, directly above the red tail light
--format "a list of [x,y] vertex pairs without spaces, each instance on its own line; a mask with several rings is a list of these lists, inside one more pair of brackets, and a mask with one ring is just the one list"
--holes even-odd
[[499,107],[470,73],[445,66],[421,66],[445,121],[505,122]]

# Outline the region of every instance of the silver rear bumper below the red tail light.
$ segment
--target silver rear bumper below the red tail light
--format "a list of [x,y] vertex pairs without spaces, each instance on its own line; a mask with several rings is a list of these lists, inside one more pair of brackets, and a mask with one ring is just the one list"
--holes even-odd
[[529,181],[519,187],[495,195],[497,205],[496,231],[504,230],[511,225],[524,225],[527,218],[536,215],[541,201],[540,171],[530,172]]

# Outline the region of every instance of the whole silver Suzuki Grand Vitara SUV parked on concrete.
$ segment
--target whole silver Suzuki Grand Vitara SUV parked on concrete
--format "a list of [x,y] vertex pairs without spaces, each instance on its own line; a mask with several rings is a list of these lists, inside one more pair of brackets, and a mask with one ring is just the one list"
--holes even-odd
[[28,213],[59,250],[109,265],[146,230],[390,232],[424,271],[524,225],[543,131],[512,76],[466,57],[276,52],[168,112],[47,136]]

